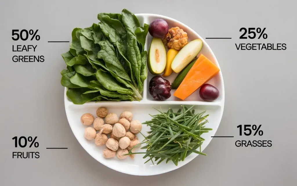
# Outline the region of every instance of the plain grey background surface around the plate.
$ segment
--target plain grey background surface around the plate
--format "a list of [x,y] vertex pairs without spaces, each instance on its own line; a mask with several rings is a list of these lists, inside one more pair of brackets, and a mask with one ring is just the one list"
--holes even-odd
[[[183,22],[205,37],[225,82],[225,109],[216,138],[189,164],[157,176],[105,167],[78,143],[64,110],[60,54],[74,27],[99,12],[154,13]],[[0,185],[296,185],[296,2],[294,1],[1,1]],[[241,27],[266,27],[266,40],[239,40]],[[11,39],[12,29],[39,29],[39,41]],[[235,43],[286,43],[285,51],[237,51]],[[12,44],[37,44],[43,63],[14,63]],[[239,137],[239,124],[262,124],[263,136]],[[38,136],[40,147],[16,149],[12,137]],[[272,147],[236,147],[236,140],[272,140]],[[46,147],[68,147],[47,150]],[[12,151],[40,152],[12,159]]]

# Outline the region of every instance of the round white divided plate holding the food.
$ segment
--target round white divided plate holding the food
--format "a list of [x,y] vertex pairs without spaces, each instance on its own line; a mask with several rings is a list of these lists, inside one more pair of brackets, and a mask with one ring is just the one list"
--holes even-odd
[[[214,62],[218,67],[219,63],[217,62],[216,57],[214,56],[214,53],[211,51],[209,46],[206,44],[206,42],[201,38],[194,30],[189,28],[188,26],[182,24],[179,21],[176,21],[172,18],[168,18],[162,15],[155,15],[155,14],[136,14],[136,16],[139,19],[139,22],[141,25],[144,23],[149,24],[151,21],[157,18],[161,18],[167,21],[169,28],[178,26],[182,28],[185,32],[188,34],[188,40],[191,41],[193,39],[201,39],[203,41],[203,47],[199,54],[205,55],[209,60]],[[146,46],[145,50],[149,51],[149,46],[151,43],[152,37],[150,34],[146,37]],[[167,47],[166,47],[167,48]],[[199,55],[198,54],[198,55]],[[170,83],[173,82],[177,74],[171,74],[169,77],[166,77],[170,81]],[[173,96],[174,90],[171,91],[172,96],[166,100],[166,101],[154,101],[153,98],[149,94],[148,90],[148,83],[149,80],[153,77],[152,74],[148,73],[148,77],[146,81],[144,82],[144,90],[143,90],[143,99],[141,101],[100,101],[100,102],[88,102],[83,105],[75,105],[73,104],[66,96],[67,88],[65,88],[65,95],[64,95],[64,101],[65,101],[65,110],[66,115],[68,118],[69,125],[72,129],[73,134],[77,138],[78,142],[83,146],[83,148],[97,161],[102,163],[103,165],[112,168],[116,171],[126,173],[126,174],[132,174],[132,175],[141,175],[141,176],[148,176],[148,175],[156,175],[156,174],[162,174],[165,172],[169,172],[172,170],[175,170],[191,160],[193,160],[198,154],[192,153],[189,157],[187,157],[184,161],[178,162],[178,166],[174,165],[173,162],[168,162],[167,164],[165,161],[160,163],[159,165],[153,165],[152,162],[148,162],[144,164],[144,162],[147,159],[143,159],[143,154],[136,154],[134,160],[127,157],[124,160],[119,160],[117,157],[111,158],[111,159],[105,159],[102,156],[103,149],[106,148],[106,146],[96,146],[94,143],[94,140],[86,140],[83,137],[84,129],[87,126],[84,126],[80,123],[80,116],[84,113],[91,113],[94,116],[96,116],[96,110],[98,107],[106,107],[109,112],[114,112],[117,115],[120,115],[122,111],[131,111],[133,113],[133,119],[137,119],[141,122],[149,121],[151,120],[151,117],[149,116],[149,113],[154,115],[157,114],[157,111],[154,110],[152,107],[160,108],[162,107],[162,110],[168,110],[168,108],[172,108],[173,110],[178,110],[181,108],[181,105],[195,105],[195,113],[202,112],[206,110],[206,114],[209,114],[208,121],[209,123],[206,124],[207,128],[212,128],[212,131],[209,131],[208,133],[204,133],[202,137],[205,139],[203,142],[203,145],[201,146],[201,150],[203,151],[206,146],[211,141],[212,137],[214,136],[215,132],[217,131],[222,114],[224,109],[224,82],[222,73],[219,72],[214,78],[212,78],[208,83],[211,85],[214,85],[219,89],[220,95],[219,98],[212,102],[206,102],[200,99],[199,96],[199,90],[195,91],[191,96],[189,96],[186,100],[181,101],[180,99],[177,99]],[[142,126],[143,134],[146,134],[146,132],[149,131],[149,127],[146,125]],[[137,134],[138,139],[142,141],[144,137],[140,134]],[[137,152],[145,151],[145,149],[138,149]],[[207,157],[203,157],[207,158]]]

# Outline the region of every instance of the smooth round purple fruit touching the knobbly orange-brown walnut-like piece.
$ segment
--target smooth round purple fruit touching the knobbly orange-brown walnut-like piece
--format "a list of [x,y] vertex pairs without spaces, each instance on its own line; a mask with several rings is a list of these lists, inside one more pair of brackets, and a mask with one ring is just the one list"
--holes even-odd
[[168,33],[168,24],[164,19],[155,19],[149,24],[149,33],[153,37],[163,38]]

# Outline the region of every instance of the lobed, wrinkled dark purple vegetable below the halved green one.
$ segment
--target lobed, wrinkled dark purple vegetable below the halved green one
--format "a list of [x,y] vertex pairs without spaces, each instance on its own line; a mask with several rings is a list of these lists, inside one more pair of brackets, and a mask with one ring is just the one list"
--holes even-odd
[[149,93],[155,100],[161,101],[170,98],[170,91],[170,82],[161,76],[154,76],[149,82]]

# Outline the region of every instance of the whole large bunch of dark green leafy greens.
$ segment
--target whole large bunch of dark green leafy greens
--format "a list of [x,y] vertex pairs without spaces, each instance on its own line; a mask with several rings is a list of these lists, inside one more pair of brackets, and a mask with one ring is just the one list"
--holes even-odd
[[128,10],[99,13],[99,23],[75,28],[61,85],[68,87],[67,97],[74,104],[87,101],[141,100],[147,77],[144,51],[149,25],[140,26]]

